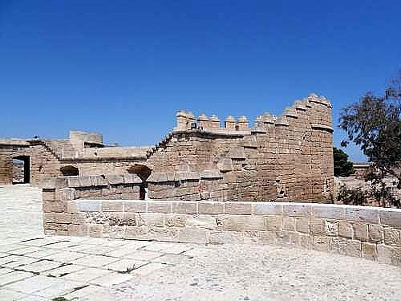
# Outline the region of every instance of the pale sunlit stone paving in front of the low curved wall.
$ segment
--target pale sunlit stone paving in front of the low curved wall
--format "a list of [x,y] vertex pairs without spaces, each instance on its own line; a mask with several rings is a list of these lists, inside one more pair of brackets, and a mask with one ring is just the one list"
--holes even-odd
[[0,187],[0,300],[401,299],[401,269],[361,258],[42,230],[40,191]]

